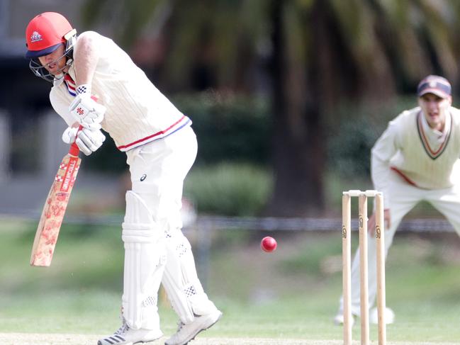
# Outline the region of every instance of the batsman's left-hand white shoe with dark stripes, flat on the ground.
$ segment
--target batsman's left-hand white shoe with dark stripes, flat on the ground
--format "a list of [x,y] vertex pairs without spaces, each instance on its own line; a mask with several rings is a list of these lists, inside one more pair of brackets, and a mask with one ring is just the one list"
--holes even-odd
[[123,320],[123,324],[118,331],[111,336],[99,339],[97,345],[133,345],[154,341],[162,336],[163,333],[159,329],[130,329],[128,324]]

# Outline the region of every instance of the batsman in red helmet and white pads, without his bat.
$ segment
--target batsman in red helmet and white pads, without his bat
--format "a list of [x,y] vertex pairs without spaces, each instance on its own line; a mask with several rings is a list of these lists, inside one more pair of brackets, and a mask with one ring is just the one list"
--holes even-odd
[[126,193],[122,225],[123,324],[98,344],[159,339],[160,283],[180,319],[165,344],[187,344],[222,315],[203,291],[181,232],[182,186],[197,151],[191,120],[112,40],[93,31],[77,36],[59,13],[35,16],[26,41],[30,69],[52,83],[52,107],[69,126],[64,142],[76,142],[89,155],[105,140],[102,128],[126,152],[130,166],[133,187]]

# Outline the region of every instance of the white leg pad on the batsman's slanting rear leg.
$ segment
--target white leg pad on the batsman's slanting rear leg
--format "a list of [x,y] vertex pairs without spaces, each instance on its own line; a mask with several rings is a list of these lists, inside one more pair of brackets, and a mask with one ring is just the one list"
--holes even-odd
[[167,264],[162,284],[181,321],[188,324],[196,315],[208,315],[217,310],[204,293],[189,240],[179,228],[166,232],[166,249]]

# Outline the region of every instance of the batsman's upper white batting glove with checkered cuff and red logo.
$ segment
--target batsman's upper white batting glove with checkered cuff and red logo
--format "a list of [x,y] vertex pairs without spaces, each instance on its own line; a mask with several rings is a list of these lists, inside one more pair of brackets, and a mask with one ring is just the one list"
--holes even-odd
[[91,98],[91,88],[84,84],[77,86],[77,96],[70,103],[69,112],[84,128],[100,130],[106,107]]

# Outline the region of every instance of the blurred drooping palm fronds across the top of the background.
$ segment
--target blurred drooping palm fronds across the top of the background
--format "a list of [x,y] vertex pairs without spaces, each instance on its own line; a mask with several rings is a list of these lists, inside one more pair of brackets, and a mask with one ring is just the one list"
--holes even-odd
[[[314,63],[308,52],[325,50],[315,45],[313,35],[325,34],[329,40],[320,45],[335,43],[342,52],[332,61],[337,66],[327,66],[332,74],[341,74],[329,85],[340,90],[340,96],[352,89],[359,91],[355,96],[386,92],[383,87],[392,87],[393,81],[405,88],[433,71],[457,78],[456,0],[201,0],[193,5],[185,0],[86,0],[82,17],[86,27],[105,21],[125,48],[161,38],[161,79],[176,89],[193,85],[197,68],[213,74],[209,86],[252,89],[255,81],[245,75],[253,76],[254,64],[263,64],[273,54],[270,11],[277,4],[288,42],[286,72],[299,63]],[[312,16],[321,16],[327,33],[315,28]],[[379,80],[383,84],[376,83]]]

